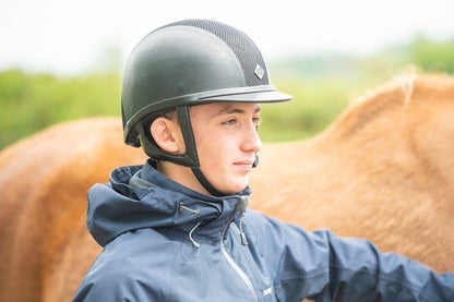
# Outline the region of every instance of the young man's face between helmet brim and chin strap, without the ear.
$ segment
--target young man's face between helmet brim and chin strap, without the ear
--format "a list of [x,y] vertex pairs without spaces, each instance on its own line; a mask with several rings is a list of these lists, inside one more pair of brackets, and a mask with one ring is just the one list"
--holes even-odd
[[256,133],[260,106],[216,102],[190,108],[201,170],[220,192],[231,194],[249,184],[262,143]]

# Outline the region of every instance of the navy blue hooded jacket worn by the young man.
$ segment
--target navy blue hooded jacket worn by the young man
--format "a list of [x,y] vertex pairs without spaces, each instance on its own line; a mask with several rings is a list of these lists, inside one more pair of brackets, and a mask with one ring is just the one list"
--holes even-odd
[[150,164],[115,169],[88,192],[104,251],[73,301],[454,301],[453,274],[247,209],[249,193],[207,196]]

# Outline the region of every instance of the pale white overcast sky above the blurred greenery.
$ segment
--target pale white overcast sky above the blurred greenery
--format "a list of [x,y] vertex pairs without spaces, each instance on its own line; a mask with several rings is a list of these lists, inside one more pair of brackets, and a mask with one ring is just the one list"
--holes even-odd
[[453,0],[0,0],[0,70],[75,74],[106,46],[122,50],[182,19],[214,19],[246,32],[271,60],[287,52],[368,53],[416,33],[454,38]]

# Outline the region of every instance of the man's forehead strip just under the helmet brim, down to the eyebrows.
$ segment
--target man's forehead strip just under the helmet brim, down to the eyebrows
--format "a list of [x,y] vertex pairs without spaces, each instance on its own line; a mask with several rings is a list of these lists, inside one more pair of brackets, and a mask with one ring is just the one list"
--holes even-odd
[[213,102],[191,107],[192,112],[206,117],[218,117],[230,113],[254,114],[261,111],[256,102]]

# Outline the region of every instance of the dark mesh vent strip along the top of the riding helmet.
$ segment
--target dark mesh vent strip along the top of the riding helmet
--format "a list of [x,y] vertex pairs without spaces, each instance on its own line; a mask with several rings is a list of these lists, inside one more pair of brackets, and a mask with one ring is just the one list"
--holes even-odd
[[[270,85],[267,69],[263,57],[255,44],[244,33],[229,25],[211,20],[183,20],[160,28],[170,26],[193,26],[216,35],[228,45],[238,58],[248,86]],[[262,78],[254,73],[258,64],[264,70]]]

